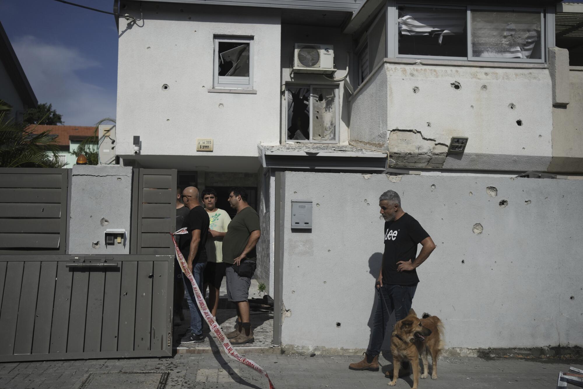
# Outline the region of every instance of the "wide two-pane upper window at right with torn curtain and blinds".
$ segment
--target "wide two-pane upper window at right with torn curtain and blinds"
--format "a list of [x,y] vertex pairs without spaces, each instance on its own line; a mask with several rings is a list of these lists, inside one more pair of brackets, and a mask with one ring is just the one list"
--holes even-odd
[[398,5],[397,10],[398,57],[544,61],[543,9]]

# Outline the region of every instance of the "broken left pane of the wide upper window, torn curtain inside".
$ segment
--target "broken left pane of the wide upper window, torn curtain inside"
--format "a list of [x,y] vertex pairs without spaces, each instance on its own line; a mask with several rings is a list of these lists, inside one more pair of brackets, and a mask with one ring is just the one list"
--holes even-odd
[[468,57],[465,8],[399,6],[399,54]]

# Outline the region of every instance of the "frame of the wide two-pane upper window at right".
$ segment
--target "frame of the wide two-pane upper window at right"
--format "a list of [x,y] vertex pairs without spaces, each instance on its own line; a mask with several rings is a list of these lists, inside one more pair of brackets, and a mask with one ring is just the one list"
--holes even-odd
[[[399,54],[399,7],[408,6],[416,8],[448,8],[448,9],[465,9],[466,10],[466,41],[468,43],[467,55],[466,57],[448,57],[446,55],[410,55],[410,54]],[[547,26],[545,23],[545,16],[547,9],[545,8],[529,8],[529,7],[511,7],[511,6],[473,6],[473,5],[440,5],[440,4],[426,4],[426,3],[416,3],[416,2],[395,2],[394,12],[387,12],[387,15],[392,15],[394,20],[395,29],[394,34],[394,50],[396,58],[415,58],[415,59],[428,59],[428,60],[454,60],[454,61],[482,61],[482,62],[522,62],[522,63],[544,63],[546,62],[546,48],[549,44],[549,38],[547,37]],[[523,58],[487,58],[487,57],[473,57],[472,55],[472,10],[475,11],[497,11],[497,12],[540,12],[540,50],[542,51],[540,59],[523,59]],[[389,16],[388,16],[389,17]],[[390,25],[387,23],[387,25]],[[388,29],[387,29],[388,31]],[[387,39],[387,41],[389,41]]]

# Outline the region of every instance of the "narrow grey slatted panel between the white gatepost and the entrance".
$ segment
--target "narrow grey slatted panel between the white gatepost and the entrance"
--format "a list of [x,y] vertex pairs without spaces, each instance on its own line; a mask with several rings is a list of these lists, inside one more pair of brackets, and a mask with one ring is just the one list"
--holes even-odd
[[174,253],[176,179],[175,169],[134,169],[130,253]]

